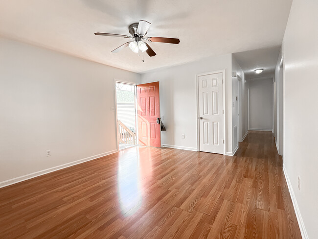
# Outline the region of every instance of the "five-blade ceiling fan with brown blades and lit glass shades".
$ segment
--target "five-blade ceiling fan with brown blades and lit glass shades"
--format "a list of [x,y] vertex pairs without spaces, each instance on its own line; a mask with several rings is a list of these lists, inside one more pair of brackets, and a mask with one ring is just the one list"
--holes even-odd
[[172,43],[172,44],[179,44],[180,40],[178,38],[167,38],[167,37],[146,37],[147,31],[150,27],[151,23],[148,23],[147,21],[140,20],[139,23],[133,23],[130,24],[128,29],[129,33],[132,36],[128,35],[120,35],[120,34],[113,34],[113,33],[102,33],[102,32],[96,32],[95,35],[99,36],[110,36],[110,37],[124,37],[124,38],[131,38],[134,39],[133,41],[126,42],[123,45],[119,46],[118,48],[115,48],[112,50],[112,52],[119,52],[123,48],[126,48],[129,46],[132,51],[138,53],[139,50],[141,52],[146,51],[149,56],[155,56],[156,52],[144,41],[149,42],[164,42],[164,43]]

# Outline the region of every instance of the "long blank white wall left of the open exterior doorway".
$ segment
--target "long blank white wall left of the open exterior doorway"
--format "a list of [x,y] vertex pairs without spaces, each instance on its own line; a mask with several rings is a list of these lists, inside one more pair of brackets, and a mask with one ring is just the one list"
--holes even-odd
[[0,182],[116,150],[114,78],[140,75],[0,38]]

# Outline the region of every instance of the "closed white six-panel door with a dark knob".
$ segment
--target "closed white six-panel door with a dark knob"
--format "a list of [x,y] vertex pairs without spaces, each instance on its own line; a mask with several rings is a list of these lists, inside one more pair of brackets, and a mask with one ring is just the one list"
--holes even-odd
[[224,153],[222,73],[198,77],[200,151]]

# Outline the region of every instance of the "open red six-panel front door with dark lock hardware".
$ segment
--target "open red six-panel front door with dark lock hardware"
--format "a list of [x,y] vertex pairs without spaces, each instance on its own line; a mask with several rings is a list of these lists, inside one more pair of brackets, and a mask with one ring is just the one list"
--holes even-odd
[[159,82],[137,85],[137,102],[139,144],[161,147]]

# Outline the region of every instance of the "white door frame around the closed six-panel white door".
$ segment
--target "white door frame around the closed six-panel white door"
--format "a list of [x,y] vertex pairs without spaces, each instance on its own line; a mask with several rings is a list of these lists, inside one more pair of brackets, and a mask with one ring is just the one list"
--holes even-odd
[[225,80],[225,69],[223,70],[218,70],[218,71],[213,71],[213,72],[204,72],[204,73],[199,73],[196,74],[196,100],[197,100],[197,151],[200,151],[200,124],[199,124],[199,76],[203,76],[203,75],[209,75],[209,74],[217,74],[217,73],[222,73],[222,90],[223,90],[223,110],[224,110],[224,114],[223,114],[223,140],[224,140],[224,147],[223,147],[223,154],[226,154],[226,145],[227,145],[227,140],[226,140],[226,110],[225,110],[225,84],[226,84],[226,80]]

